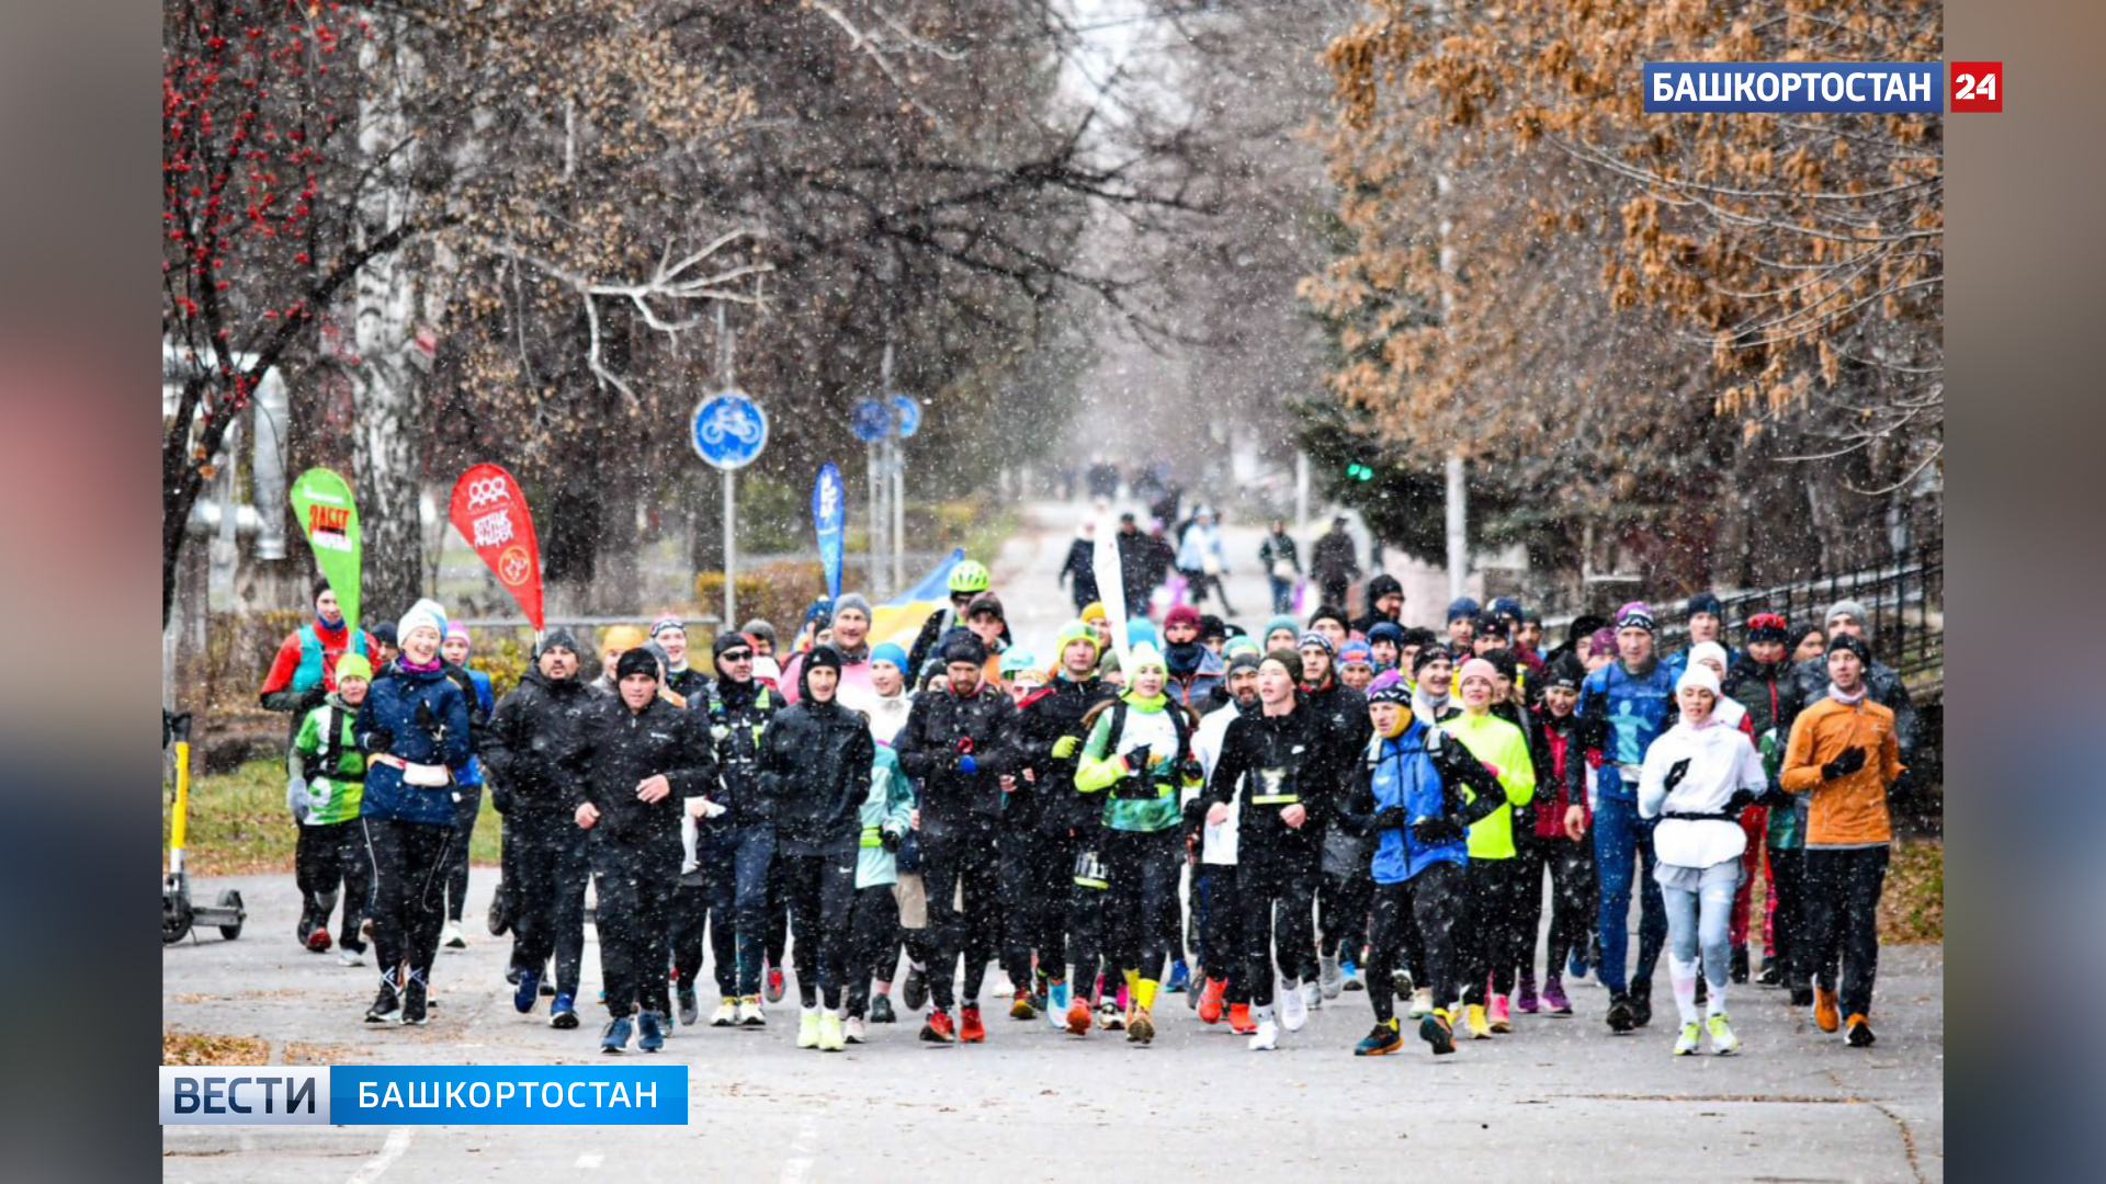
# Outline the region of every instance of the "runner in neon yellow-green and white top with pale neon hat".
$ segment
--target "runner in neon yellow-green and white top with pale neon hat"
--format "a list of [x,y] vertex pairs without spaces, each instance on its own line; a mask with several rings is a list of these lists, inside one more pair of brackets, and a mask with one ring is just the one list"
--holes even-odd
[[[1127,691],[1112,704],[1097,704],[1085,727],[1089,739],[1076,765],[1074,788],[1082,796],[1104,794],[1101,860],[1110,889],[1097,921],[1101,933],[1078,933],[1087,971],[1091,946],[1106,967],[1120,973],[1129,1005],[1120,1015],[1129,1043],[1154,1041],[1156,986],[1169,965],[1163,919],[1177,906],[1179,782],[1198,780],[1192,761],[1196,718],[1163,693],[1167,666],[1152,645],[1139,645],[1127,662]],[[1181,931],[1181,919],[1171,931]]]

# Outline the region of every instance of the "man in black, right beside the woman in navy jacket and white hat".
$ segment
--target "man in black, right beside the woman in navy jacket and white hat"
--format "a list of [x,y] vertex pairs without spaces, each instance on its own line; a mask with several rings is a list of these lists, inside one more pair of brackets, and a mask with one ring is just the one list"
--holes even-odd
[[512,1005],[533,1011],[541,973],[556,959],[550,1026],[577,1026],[577,975],[585,954],[585,832],[571,817],[575,752],[592,689],[577,676],[577,638],[554,630],[541,653],[491,714],[482,763],[491,805],[503,815],[503,881],[512,929]]

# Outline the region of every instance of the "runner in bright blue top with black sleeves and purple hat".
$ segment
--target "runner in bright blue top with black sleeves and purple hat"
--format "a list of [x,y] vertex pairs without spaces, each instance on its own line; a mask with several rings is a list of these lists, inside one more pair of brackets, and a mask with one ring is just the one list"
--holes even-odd
[[1373,838],[1369,876],[1375,885],[1373,952],[1367,963],[1375,1028],[1352,1051],[1386,1055],[1403,1047],[1390,982],[1400,965],[1405,929],[1415,929],[1422,982],[1438,1001],[1419,1018],[1419,1039],[1434,1055],[1453,1053],[1449,1003],[1457,996],[1453,931],[1468,912],[1466,832],[1502,813],[1506,796],[1468,748],[1411,714],[1403,685],[1392,683],[1369,695],[1369,718],[1373,735],[1342,813],[1348,826]]

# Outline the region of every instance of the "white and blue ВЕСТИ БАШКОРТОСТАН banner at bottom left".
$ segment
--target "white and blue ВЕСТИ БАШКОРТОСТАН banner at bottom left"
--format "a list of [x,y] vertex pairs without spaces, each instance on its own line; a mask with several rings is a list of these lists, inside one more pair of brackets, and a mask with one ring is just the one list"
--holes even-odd
[[687,1066],[160,1066],[160,1123],[684,1127]]

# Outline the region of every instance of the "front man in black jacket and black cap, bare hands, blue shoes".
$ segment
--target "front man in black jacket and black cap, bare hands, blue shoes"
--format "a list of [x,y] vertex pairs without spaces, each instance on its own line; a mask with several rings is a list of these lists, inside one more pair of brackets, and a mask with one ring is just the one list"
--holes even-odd
[[630,1013],[640,1009],[636,1047],[655,1053],[665,1047],[672,1011],[665,965],[680,813],[716,786],[716,756],[701,718],[659,697],[657,657],[640,647],[615,659],[615,695],[598,699],[583,725],[585,777],[571,803],[577,826],[592,832],[594,927],[611,1015],[600,1051],[628,1049]]

